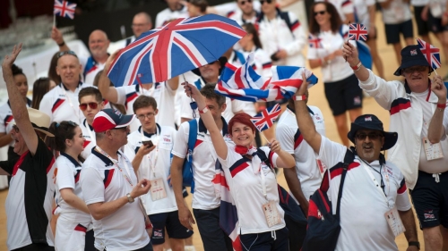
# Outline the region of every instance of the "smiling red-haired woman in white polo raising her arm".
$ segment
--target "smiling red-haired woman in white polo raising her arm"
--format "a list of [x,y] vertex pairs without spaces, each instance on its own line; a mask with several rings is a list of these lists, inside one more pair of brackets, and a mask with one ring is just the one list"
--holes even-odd
[[237,113],[228,122],[228,134],[234,144],[226,143],[211,115],[218,112],[216,108],[209,110],[204,97],[192,84],[185,85],[185,93],[196,101],[201,119],[210,132],[237,207],[237,232],[244,250],[289,250],[288,230],[272,168],[292,168],[294,158],[281,150],[275,139],[271,147],[259,148],[262,155],[257,153],[257,148],[252,146],[256,129],[246,113]]

